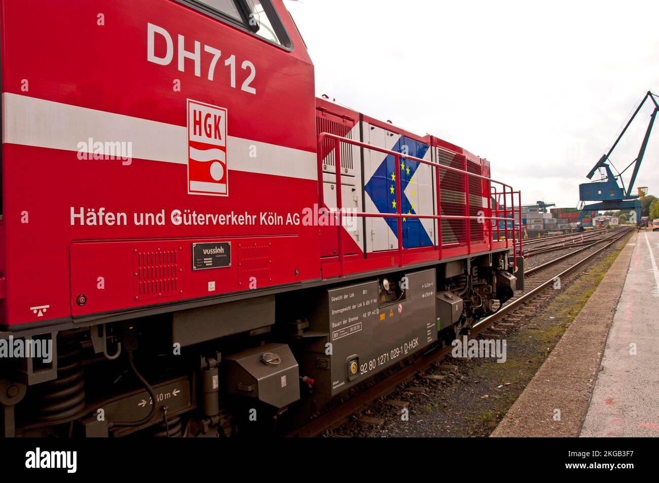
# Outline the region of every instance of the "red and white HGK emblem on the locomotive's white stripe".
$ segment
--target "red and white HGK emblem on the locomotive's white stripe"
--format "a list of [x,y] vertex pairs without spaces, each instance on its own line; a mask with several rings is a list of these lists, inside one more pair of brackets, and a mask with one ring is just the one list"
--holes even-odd
[[229,196],[227,109],[190,99],[188,194]]

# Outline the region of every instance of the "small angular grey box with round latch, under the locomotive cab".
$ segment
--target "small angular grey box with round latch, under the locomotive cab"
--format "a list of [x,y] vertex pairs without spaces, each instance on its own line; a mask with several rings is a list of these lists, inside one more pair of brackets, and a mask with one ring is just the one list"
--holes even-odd
[[300,399],[297,361],[286,344],[266,344],[223,357],[225,390],[276,408]]

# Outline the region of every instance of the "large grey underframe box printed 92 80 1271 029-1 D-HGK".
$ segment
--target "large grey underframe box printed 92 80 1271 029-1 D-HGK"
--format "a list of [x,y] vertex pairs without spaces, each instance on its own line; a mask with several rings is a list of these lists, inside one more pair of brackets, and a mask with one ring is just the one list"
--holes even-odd
[[403,276],[407,289],[397,300],[388,300],[373,279],[328,289],[310,311],[310,330],[328,334],[310,345],[301,361],[303,375],[313,374],[316,379],[318,401],[437,340],[435,269]]

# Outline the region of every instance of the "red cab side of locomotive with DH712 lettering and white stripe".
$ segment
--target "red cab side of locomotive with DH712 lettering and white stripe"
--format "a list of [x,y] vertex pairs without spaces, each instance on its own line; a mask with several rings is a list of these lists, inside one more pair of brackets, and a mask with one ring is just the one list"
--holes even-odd
[[[290,51],[176,1],[3,1],[1,326],[320,277],[317,228],[286,219],[318,199],[313,67],[273,5]],[[229,196],[188,194],[188,99],[227,113]],[[94,159],[96,142],[132,156]],[[230,267],[192,270],[206,241],[231,241]]]

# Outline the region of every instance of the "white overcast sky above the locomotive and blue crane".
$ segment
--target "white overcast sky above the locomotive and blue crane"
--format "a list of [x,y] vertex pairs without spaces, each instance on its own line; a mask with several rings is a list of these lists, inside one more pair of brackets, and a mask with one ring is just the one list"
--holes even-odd
[[[318,95],[488,158],[525,204],[576,206],[635,103],[659,94],[656,1],[285,4]],[[638,154],[647,104],[612,156],[618,169]],[[637,186],[659,196],[659,119]]]

